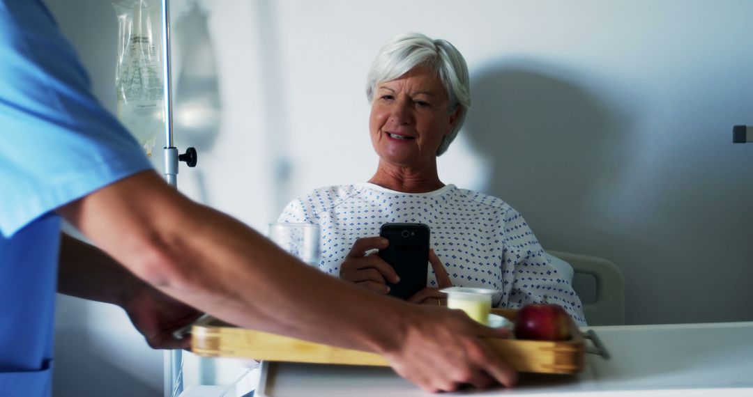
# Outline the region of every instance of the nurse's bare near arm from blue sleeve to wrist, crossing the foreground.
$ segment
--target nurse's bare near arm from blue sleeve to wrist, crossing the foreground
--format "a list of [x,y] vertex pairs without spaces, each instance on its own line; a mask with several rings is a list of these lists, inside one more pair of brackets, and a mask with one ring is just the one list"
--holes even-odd
[[[376,335],[331,335],[333,328],[370,321],[362,310],[374,305],[369,294],[303,265],[239,221],[192,202],[154,171],[112,183],[58,212],[136,277],[221,320],[349,347],[377,343],[368,340]],[[401,314],[389,303],[380,305],[385,318]],[[330,326],[304,326],[322,320]]]

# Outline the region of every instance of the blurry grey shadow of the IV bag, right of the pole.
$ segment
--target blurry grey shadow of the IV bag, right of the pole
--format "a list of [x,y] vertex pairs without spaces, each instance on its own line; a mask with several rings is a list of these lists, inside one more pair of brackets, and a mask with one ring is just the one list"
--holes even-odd
[[[195,147],[199,162],[206,159],[220,132],[221,101],[216,53],[209,35],[209,11],[199,2],[190,2],[186,14],[175,21],[175,58],[180,69],[173,76],[175,101],[173,120],[176,146],[181,152]],[[198,199],[208,204],[210,197],[203,167],[197,165],[186,173],[196,178]]]

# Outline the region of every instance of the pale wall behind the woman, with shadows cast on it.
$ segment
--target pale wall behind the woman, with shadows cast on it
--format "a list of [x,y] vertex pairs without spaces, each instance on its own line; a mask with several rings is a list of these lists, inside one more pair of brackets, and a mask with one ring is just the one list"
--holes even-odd
[[[113,109],[110,5],[47,3]],[[367,180],[367,67],[424,32],[471,70],[444,182],[504,198],[547,249],[614,261],[628,323],[753,320],[753,145],[730,136],[753,124],[753,2],[216,0],[189,23],[171,4],[175,40],[197,35],[174,46],[175,106],[219,120],[176,116],[200,150],[188,195],[263,229],[296,195]]]

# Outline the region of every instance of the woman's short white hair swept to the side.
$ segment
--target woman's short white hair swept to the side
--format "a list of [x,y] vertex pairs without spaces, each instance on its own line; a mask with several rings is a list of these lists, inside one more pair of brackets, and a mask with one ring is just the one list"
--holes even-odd
[[371,64],[366,81],[366,97],[371,103],[377,84],[395,80],[419,65],[434,69],[439,76],[447,91],[448,111],[453,112],[459,108],[453,130],[442,138],[437,149],[437,156],[440,156],[458,135],[465,114],[471,108],[468,65],[450,41],[432,40],[420,33],[396,35],[382,47],[377,59]]

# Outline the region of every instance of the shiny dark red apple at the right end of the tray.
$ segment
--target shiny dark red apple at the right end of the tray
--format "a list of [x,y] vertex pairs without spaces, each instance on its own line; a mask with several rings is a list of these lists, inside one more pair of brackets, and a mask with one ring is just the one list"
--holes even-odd
[[565,341],[570,338],[570,317],[558,305],[523,306],[515,319],[515,337],[537,341]]

